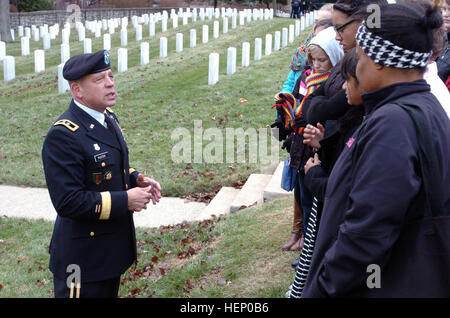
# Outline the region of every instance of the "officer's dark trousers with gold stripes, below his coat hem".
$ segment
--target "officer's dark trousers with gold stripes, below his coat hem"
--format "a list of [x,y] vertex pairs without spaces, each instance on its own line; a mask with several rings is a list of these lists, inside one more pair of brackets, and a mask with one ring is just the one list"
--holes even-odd
[[117,298],[120,276],[98,282],[81,282],[79,288],[67,286],[65,279],[53,276],[55,298]]

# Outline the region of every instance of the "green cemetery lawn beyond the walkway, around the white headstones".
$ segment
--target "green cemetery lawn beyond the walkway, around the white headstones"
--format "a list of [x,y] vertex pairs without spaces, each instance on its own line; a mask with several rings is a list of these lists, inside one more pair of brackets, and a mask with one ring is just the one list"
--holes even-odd
[[[176,128],[185,128],[194,135],[194,121],[202,121],[203,131],[219,128],[258,129],[273,121],[270,109],[272,97],[280,90],[289,72],[289,61],[294,48],[306,37],[307,31],[287,48],[254,61],[254,39],[281,31],[292,23],[289,19],[257,21],[226,35],[213,39],[213,21],[198,21],[176,30],[169,27],[168,57],[159,58],[160,24],[156,37],[148,38],[144,26],[144,41],[150,43],[150,64],[140,66],[140,44],[134,41],[135,32],[129,27],[128,71],[117,74],[117,49],[120,32],[112,36],[111,61],[118,92],[114,111],[124,129],[130,149],[131,165],[158,180],[165,196],[181,196],[198,192],[211,192],[246,179],[251,173],[263,169],[261,162],[175,163],[172,147],[179,140],[171,140]],[[181,23],[180,23],[181,24]],[[209,25],[209,43],[201,43],[201,26]],[[189,30],[197,29],[197,48],[189,48]],[[175,36],[184,34],[184,51],[175,52]],[[222,30],[221,30],[222,32]],[[90,32],[86,32],[87,37]],[[93,40],[93,51],[102,49],[102,38]],[[251,43],[250,67],[242,68],[242,42]],[[52,41],[46,51],[46,70],[34,74],[33,51],[42,48],[42,42],[30,40],[30,56],[20,55],[20,41],[7,45],[7,54],[16,56],[16,79],[0,81],[0,183],[45,187],[41,162],[42,143],[48,129],[65,111],[70,93],[58,94],[57,65],[60,63],[61,38]],[[264,44],[264,43],[263,43]],[[71,55],[82,53],[82,43],[72,29]],[[237,48],[237,72],[226,75],[227,48]],[[264,45],[263,45],[264,46]],[[208,55],[220,54],[220,79],[215,86],[207,85]],[[0,73],[3,64],[0,63]],[[247,100],[241,102],[240,99]],[[203,147],[209,143],[204,140]],[[192,142],[193,147],[193,142]],[[236,150],[236,149],[235,149]],[[225,146],[224,146],[225,152]],[[248,149],[246,150],[248,153]],[[192,152],[192,160],[194,153]],[[188,169],[187,169],[188,168]]]

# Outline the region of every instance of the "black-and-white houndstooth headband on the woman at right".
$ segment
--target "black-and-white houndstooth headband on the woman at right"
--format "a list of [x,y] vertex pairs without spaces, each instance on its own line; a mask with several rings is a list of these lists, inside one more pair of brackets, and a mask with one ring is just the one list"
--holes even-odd
[[433,54],[414,52],[373,34],[363,21],[356,33],[356,42],[376,64],[394,68],[425,67]]

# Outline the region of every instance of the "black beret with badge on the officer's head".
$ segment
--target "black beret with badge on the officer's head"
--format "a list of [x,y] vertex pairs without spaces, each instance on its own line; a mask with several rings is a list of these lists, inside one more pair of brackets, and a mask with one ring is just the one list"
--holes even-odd
[[75,81],[85,75],[103,72],[110,68],[109,52],[101,50],[71,57],[64,65],[63,76],[68,81]]

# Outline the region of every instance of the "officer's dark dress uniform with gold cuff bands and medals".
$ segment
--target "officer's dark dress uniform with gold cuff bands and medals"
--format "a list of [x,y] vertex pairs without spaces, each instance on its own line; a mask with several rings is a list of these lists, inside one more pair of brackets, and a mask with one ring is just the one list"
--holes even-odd
[[[136,260],[126,190],[136,186],[138,172],[129,166],[126,142],[109,108],[105,122],[108,128],[72,100],[43,145],[45,177],[58,213],[50,243],[55,297],[116,297],[120,275]],[[70,264],[81,274],[75,291],[66,284]]]

